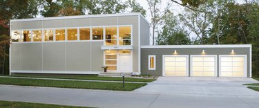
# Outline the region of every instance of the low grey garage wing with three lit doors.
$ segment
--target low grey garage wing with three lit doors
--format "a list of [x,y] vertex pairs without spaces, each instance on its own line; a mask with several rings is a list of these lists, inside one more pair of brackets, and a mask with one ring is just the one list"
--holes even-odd
[[[156,68],[148,70],[148,55]],[[251,77],[251,45],[142,46],[142,73],[175,77]],[[146,64],[147,63],[147,64]]]

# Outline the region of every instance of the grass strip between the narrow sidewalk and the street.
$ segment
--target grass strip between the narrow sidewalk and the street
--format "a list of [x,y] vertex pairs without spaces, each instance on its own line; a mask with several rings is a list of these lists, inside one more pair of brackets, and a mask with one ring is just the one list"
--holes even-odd
[[67,80],[41,80],[41,79],[23,79],[23,78],[0,78],[0,84],[11,84],[19,86],[33,87],[60,87],[76,89],[104,89],[115,91],[133,91],[143,87],[146,83],[125,83],[122,88],[122,82],[87,82],[87,81],[67,81]]

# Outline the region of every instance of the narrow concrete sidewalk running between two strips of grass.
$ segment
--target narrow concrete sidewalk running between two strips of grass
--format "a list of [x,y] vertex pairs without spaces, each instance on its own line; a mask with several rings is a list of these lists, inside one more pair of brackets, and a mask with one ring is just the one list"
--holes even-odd
[[[0,78],[21,78],[21,79],[41,79],[41,80],[72,80],[84,82],[122,82],[112,80],[79,80],[79,79],[65,79],[65,78],[28,78],[28,77],[15,77],[15,76],[0,76]],[[126,83],[148,83],[148,82],[126,82]]]

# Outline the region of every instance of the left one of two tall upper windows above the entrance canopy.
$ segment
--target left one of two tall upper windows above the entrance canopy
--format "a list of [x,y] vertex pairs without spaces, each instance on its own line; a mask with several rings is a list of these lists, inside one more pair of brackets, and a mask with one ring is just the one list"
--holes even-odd
[[117,27],[105,28],[106,46],[117,45]]

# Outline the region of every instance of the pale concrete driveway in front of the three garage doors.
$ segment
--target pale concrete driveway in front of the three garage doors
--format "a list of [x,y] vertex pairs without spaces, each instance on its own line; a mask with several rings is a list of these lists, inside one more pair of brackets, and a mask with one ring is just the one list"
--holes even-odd
[[185,78],[160,77],[136,92],[161,94],[202,94],[224,96],[259,96],[257,91],[242,84],[256,83],[252,78]]

